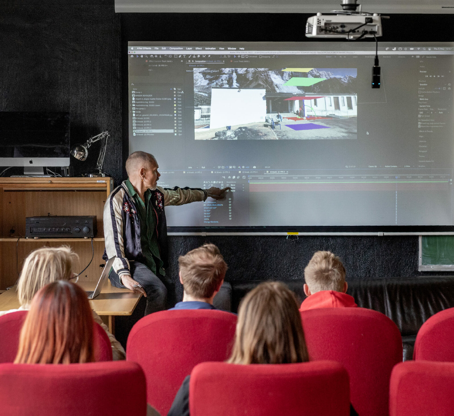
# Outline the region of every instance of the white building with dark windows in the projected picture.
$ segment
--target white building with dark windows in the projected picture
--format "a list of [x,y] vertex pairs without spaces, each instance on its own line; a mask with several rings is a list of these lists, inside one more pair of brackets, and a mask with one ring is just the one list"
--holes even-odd
[[[320,94],[321,95],[321,94]],[[330,94],[314,99],[301,99],[295,101],[296,109],[303,108],[300,117],[356,117],[358,114],[358,98],[356,95]]]

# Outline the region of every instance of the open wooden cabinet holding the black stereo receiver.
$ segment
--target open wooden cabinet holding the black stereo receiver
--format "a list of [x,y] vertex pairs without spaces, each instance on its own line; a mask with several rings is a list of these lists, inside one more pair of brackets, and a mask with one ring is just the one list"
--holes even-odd
[[25,218],[46,215],[96,215],[93,262],[79,277],[97,280],[104,265],[103,209],[111,178],[0,178],[0,290],[15,284],[24,258],[35,248],[69,245],[79,254],[74,272],[92,258],[91,238],[25,238]]

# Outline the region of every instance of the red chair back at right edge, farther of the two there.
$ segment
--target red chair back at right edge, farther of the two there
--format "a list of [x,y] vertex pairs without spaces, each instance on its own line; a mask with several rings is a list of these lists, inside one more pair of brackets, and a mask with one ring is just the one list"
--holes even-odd
[[435,313],[419,328],[414,360],[454,362],[454,308]]

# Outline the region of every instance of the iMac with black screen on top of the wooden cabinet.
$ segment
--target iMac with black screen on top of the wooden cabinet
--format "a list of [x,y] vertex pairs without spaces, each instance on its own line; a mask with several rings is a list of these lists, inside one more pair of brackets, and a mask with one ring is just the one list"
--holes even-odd
[[23,166],[44,174],[44,166],[69,166],[69,113],[0,112],[0,166]]

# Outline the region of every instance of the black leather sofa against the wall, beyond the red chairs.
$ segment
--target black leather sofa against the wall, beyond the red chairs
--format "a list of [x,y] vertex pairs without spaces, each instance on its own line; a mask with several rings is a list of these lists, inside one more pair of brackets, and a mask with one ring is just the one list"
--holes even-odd
[[[237,312],[241,299],[260,282],[225,282],[214,305]],[[295,292],[298,302],[302,302],[304,280],[284,282]],[[454,276],[350,279],[347,293],[355,298],[359,307],[384,313],[395,322],[402,335],[405,361],[413,357],[416,334],[421,325],[435,313],[454,307]]]

